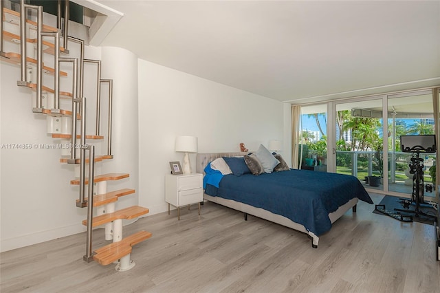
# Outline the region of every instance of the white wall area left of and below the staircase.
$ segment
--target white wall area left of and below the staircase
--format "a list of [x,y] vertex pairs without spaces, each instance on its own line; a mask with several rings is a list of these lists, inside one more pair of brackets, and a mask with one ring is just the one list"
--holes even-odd
[[0,70],[1,251],[82,232],[86,210],[76,208],[78,189],[69,184],[74,166],[59,162],[60,149],[39,147],[61,141],[32,113],[32,91],[17,87],[19,67],[1,62]]

